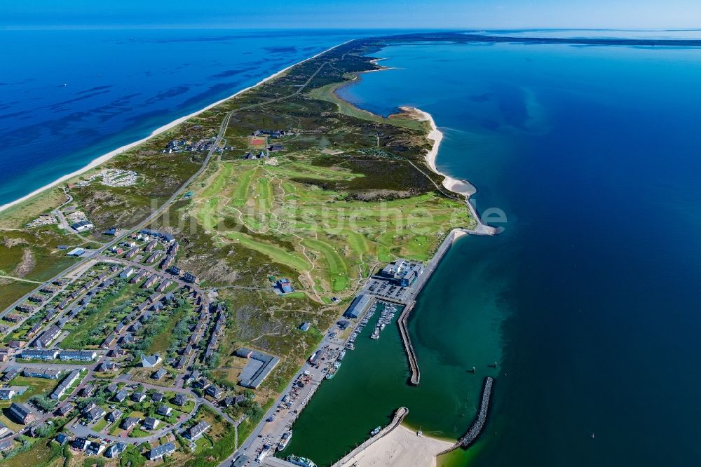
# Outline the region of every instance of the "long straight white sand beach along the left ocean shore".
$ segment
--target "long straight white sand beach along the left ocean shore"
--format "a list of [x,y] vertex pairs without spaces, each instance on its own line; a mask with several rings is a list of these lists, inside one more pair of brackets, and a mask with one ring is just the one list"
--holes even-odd
[[[352,40],[353,40],[353,39],[351,39],[351,41],[352,41]],[[346,44],[346,43],[348,43],[348,42],[351,42],[351,41],[346,41],[346,42],[343,42],[343,43],[338,44],[337,46],[333,46],[332,48],[327,48],[326,50],[323,50],[322,52],[320,52],[320,53],[314,55],[313,57],[305,58],[304,60],[301,60],[301,62],[294,63],[293,65],[290,65],[290,66],[287,67],[287,68],[281,69],[279,72],[275,72],[275,73],[271,74],[270,76],[268,76],[266,79],[261,79],[261,81],[258,81],[258,82],[255,83],[254,85],[248,86],[247,88],[244,88],[244,89],[242,89],[242,90],[239,90],[239,91],[237,91],[236,93],[230,95],[229,97],[224,97],[224,99],[222,99],[222,100],[217,100],[217,102],[214,102],[214,103],[212,103],[212,104],[209,104],[209,105],[207,105],[207,107],[204,107],[203,109],[200,109],[200,110],[198,110],[198,111],[194,111],[193,113],[191,113],[191,114],[189,114],[189,115],[186,115],[186,116],[183,116],[183,117],[180,117],[180,118],[177,119],[177,120],[173,120],[172,122],[170,122],[170,123],[168,123],[168,124],[166,124],[166,125],[163,125],[163,126],[161,126],[160,128],[156,128],[156,130],[154,130],[153,132],[151,132],[150,135],[148,135],[147,137],[142,138],[141,140],[138,140],[138,141],[135,141],[135,142],[132,142],[132,143],[129,143],[129,144],[125,144],[125,145],[122,146],[122,147],[119,147],[119,148],[117,148],[117,149],[114,149],[114,151],[109,151],[107,154],[103,154],[102,156],[100,156],[100,157],[98,157],[98,158],[95,158],[93,161],[91,161],[90,163],[88,163],[88,165],[86,165],[85,167],[83,167],[83,168],[81,168],[81,169],[79,169],[79,170],[76,170],[75,172],[69,173],[68,175],[64,175],[63,177],[60,177],[58,180],[54,180],[53,182],[51,182],[51,183],[49,183],[49,184],[46,184],[46,185],[44,185],[43,187],[32,191],[32,193],[30,193],[30,194],[28,194],[28,195],[26,195],[26,196],[22,196],[22,198],[18,198],[18,199],[16,199],[15,201],[11,201],[10,203],[1,205],[1,206],[0,206],[0,212],[6,210],[7,208],[10,208],[11,206],[13,206],[13,205],[15,205],[15,204],[22,203],[22,201],[26,201],[27,199],[32,198],[32,196],[34,196],[34,195],[36,195],[36,194],[39,194],[39,193],[41,193],[42,191],[44,191],[44,190],[46,190],[46,189],[55,187],[57,184],[60,184],[60,183],[62,183],[62,182],[65,182],[66,180],[70,180],[70,179],[72,179],[73,177],[76,177],[76,175],[81,175],[81,173],[87,172],[88,170],[97,167],[97,165],[100,165],[101,163],[104,163],[104,162],[106,162],[106,161],[109,161],[109,159],[113,158],[113,157],[116,156],[117,154],[121,154],[121,153],[123,153],[124,151],[126,151],[126,150],[128,150],[128,149],[131,149],[132,147],[135,147],[135,146],[138,146],[139,144],[142,144],[142,142],[146,142],[146,141],[149,140],[151,137],[154,137],[155,135],[158,135],[159,133],[163,133],[164,131],[170,130],[170,128],[173,128],[173,127],[175,127],[175,126],[178,126],[180,123],[186,121],[187,119],[190,119],[190,118],[193,117],[193,116],[197,116],[197,115],[203,113],[204,111],[207,111],[207,110],[211,109],[212,107],[215,107],[215,106],[221,104],[222,102],[225,102],[225,101],[227,101],[227,100],[229,100],[229,99],[231,99],[231,98],[233,98],[233,97],[236,97],[237,95],[239,95],[239,94],[241,94],[241,93],[245,93],[247,90],[250,90],[250,89],[252,89],[252,88],[255,88],[256,86],[259,86],[259,85],[261,85],[262,83],[265,83],[266,81],[269,81],[269,80],[271,80],[271,79],[273,79],[273,78],[277,78],[277,77],[280,76],[281,74],[287,72],[288,69],[290,69],[290,68],[292,68],[292,67],[295,67],[295,66],[299,65],[300,63],[304,63],[304,62],[306,62],[306,61],[308,61],[308,60],[313,60],[313,59],[315,59],[316,57],[318,57],[319,55],[322,55],[322,54],[324,54],[324,53],[327,53],[329,50],[334,50],[334,48],[343,46],[344,44]]]

